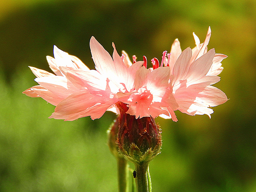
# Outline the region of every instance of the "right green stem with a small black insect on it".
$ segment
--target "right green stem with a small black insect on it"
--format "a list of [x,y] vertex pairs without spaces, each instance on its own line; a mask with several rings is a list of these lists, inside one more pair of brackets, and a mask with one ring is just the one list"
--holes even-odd
[[142,162],[140,164],[135,164],[135,170],[137,192],[151,192],[151,181],[150,185],[148,182],[148,180],[150,180],[148,163]]

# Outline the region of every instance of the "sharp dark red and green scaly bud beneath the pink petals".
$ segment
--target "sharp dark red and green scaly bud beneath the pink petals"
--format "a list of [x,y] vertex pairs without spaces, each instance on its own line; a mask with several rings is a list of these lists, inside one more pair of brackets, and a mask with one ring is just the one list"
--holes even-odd
[[129,161],[140,164],[150,162],[160,153],[162,146],[161,129],[154,118],[127,114],[128,108],[121,103],[118,117],[119,130],[116,143],[120,153]]

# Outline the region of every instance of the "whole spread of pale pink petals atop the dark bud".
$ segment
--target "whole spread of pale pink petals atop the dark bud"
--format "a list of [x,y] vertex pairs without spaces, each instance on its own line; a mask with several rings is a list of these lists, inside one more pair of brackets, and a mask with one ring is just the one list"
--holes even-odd
[[152,59],[153,68],[149,69],[145,56],[139,62],[133,56],[131,62],[126,52],[118,54],[113,43],[111,57],[94,37],[90,49],[96,70],[54,46],[54,58],[48,56],[47,60],[55,75],[30,67],[40,85],[23,93],[55,105],[50,116],[55,119],[96,119],[106,110],[119,114],[120,102],[136,119],[162,116],[177,121],[175,110],[210,116],[213,110],[208,107],[227,101],[226,95],[212,86],[220,80],[220,62],[227,56],[215,54],[214,49],[207,51],[210,34],[209,27],[202,44],[194,34],[196,47],[183,52],[176,39],[170,54],[165,51],[161,63]]

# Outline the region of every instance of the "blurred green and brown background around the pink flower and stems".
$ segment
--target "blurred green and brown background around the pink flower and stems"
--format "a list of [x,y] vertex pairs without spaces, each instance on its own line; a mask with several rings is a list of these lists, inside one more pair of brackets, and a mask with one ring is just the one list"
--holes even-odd
[[53,45],[90,68],[89,40],[112,54],[161,58],[192,32],[229,57],[215,86],[230,100],[208,116],[157,118],[163,147],[150,163],[154,192],[256,191],[255,0],[9,0],[0,2],[0,192],[116,192],[106,130],[115,115],[48,119],[54,106],[22,91],[36,85],[28,66],[50,71]]

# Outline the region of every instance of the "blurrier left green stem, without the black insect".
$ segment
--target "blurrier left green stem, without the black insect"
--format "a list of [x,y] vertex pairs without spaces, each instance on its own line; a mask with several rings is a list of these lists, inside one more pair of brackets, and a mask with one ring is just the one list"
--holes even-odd
[[128,192],[128,163],[123,157],[116,158],[118,165],[118,191]]

